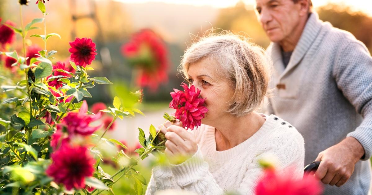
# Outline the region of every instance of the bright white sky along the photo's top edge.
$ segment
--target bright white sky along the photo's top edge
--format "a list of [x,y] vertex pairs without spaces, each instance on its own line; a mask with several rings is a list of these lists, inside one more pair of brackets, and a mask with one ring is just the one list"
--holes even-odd
[[[209,5],[214,7],[234,6],[239,0],[116,0],[124,3],[146,3],[146,2],[164,2],[170,4],[192,4],[196,6]],[[246,4],[254,4],[255,0],[243,0]],[[371,0],[312,0],[314,7],[323,6],[328,2],[345,4],[351,6],[355,11],[362,11],[372,16]],[[252,7],[253,8],[253,7]]]

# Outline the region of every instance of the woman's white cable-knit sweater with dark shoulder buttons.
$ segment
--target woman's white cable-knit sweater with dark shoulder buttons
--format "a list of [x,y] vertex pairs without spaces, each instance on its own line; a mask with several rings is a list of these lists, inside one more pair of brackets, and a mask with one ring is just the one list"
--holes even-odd
[[198,151],[179,165],[155,166],[146,194],[166,189],[184,189],[196,194],[226,192],[254,194],[262,176],[260,159],[276,158],[276,169],[294,170],[289,177],[302,178],[304,139],[288,122],[266,116],[262,127],[241,144],[225,151],[216,150],[215,128],[202,125],[194,130]]

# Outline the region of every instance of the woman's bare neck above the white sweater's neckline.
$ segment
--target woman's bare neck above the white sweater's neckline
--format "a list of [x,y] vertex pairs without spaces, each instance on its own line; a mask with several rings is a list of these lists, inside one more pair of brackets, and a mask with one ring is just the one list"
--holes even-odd
[[265,122],[258,113],[250,113],[243,117],[231,116],[226,123],[216,126],[216,150],[224,151],[246,141],[257,132]]

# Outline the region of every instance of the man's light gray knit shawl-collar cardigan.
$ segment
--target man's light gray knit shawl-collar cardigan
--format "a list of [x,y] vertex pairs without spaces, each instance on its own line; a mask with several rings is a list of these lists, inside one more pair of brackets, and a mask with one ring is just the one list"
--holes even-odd
[[274,64],[271,86],[275,88],[268,110],[304,136],[305,164],[347,136],[356,138],[365,150],[346,184],[325,185],[324,194],[367,194],[372,154],[372,58],[365,45],[312,13],[286,68],[277,43],[271,43],[267,52]]

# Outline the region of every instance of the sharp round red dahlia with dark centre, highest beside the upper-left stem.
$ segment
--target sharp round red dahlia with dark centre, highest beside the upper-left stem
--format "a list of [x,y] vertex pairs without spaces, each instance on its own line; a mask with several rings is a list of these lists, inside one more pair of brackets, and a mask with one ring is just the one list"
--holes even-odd
[[96,58],[96,44],[90,38],[76,38],[74,42],[70,42],[71,48],[68,50],[71,53],[71,60],[76,65],[86,67],[90,65]]

